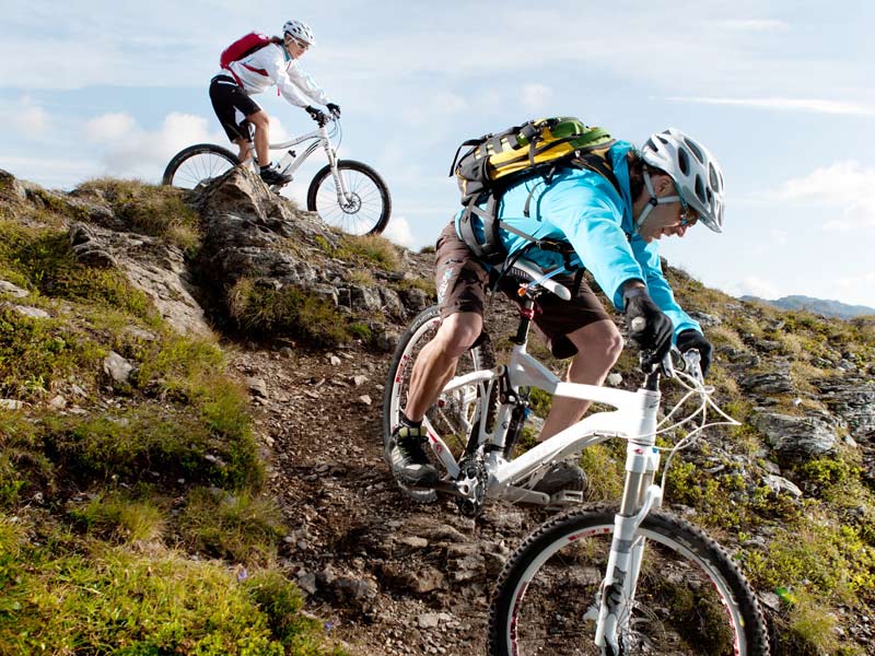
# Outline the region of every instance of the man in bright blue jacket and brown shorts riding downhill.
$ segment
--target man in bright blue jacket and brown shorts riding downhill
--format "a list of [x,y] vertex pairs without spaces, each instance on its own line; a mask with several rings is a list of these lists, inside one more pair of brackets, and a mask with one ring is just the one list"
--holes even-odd
[[[595,172],[568,168],[549,185],[538,176],[511,186],[502,196],[498,215],[521,233],[570,244],[615,306],[625,311],[628,324],[639,317],[644,320],[644,328],[632,333],[642,349],[653,351],[657,359],[673,341],[682,352],[698,349],[702,373],[707,374],[711,344],[699,324],[675,301],[660,266],[656,242],[666,235],[682,237],[700,220],[712,231],[722,232],[721,167],[708,149],[674,128],[653,134],[640,152],[628,142],[617,141],[608,151],[608,161],[621,195]],[[526,206],[530,208],[529,218],[525,218]],[[459,356],[477,341],[483,327],[489,266],[460,238],[459,216],[441,233],[436,246],[435,280],[443,321],[417,358],[407,407],[393,433],[393,471],[411,487],[438,483],[438,470],[423,448],[427,432],[422,419],[453,377]],[[478,229],[482,231],[482,225],[475,225]],[[529,244],[504,230],[500,237],[511,255]],[[532,250],[527,257],[552,266],[560,256]],[[573,286],[570,277],[556,280]],[[502,291],[515,297],[514,290]],[[571,301],[545,294],[539,305],[542,312],[535,321],[547,336],[553,355],[573,356],[567,379],[602,385],[623,342],[592,289],[584,281]],[[539,440],[579,421],[588,405],[556,398]],[[563,464],[545,476],[535,490],[547,494],[580,490],[583,480],[576,465]]]

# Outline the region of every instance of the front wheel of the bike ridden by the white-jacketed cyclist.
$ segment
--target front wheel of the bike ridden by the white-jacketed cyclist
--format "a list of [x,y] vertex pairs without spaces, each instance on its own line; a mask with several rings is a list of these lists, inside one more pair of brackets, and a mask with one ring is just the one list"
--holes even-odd
[[389,189],[380,174],[361,162],[339,160],[337,173],[347,191],[339,198],[339,189],[325,166],[315,175],[307,190],[307,210],[332,227],[351,235],[378,235],[385,230],[392,213]]

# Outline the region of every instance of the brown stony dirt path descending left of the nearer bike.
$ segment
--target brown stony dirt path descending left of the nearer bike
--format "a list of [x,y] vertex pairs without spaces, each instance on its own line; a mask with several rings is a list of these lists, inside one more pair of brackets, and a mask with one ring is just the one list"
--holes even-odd
[[388,361],[289,348],[235,356],[262,408],[270,487],[290,527],[280,555],[308,610],[353,653],[482,654],[489,587],[538,517],[491,504],[475,523],[451,501],[400,494],[382,452]]

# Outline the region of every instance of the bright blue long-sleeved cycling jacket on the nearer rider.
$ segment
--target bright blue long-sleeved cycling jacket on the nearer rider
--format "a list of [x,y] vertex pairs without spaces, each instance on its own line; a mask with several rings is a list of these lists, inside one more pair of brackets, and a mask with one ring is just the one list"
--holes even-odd
[[[608,151],[622,198],[597,173],[570,168],[558,173],[549,186],[541,177],[511,186],[499,201],[498,216],[533,237],[570,243],[618,309],[623,307],[622,284],[638,279],[648,285],[653,302],[672,319],[675,337],[689,328],[701,332],[699,324],[675,301],[660,265],[657,242],[645,244],[634,230],[626,161],[631,149],[631,143],[618,141]],[[529,195],[529,218],[526,219],[523,209]],[[460,216],[462,212],[456,215],[457,233]],[[482,239],[482,222],[478,216],[472,216],[471,221]],[[529,244],[528,239],[505,230],[499,230],[499,237],[510,254]],[[562,261],[558,254],[542,250],[530,250],[526,257],[542,267]]]

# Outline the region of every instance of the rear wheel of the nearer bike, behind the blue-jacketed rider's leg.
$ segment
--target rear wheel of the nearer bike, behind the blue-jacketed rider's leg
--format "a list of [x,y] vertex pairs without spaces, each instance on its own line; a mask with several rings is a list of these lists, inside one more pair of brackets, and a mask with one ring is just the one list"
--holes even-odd
[[[423,309],[401,337],[392,359],[383,399],[383,448],[384,457],[389,465],[392,465],[392,449],[395,446],[392,431],[398,424],[398,418],[407,405],[413,362],[422,347],[435,336],[440,325],[441,313],[436,305]],[[456,375],[491,368],[494,366],[494,362],[492,348],[489,339],[486,338],[479,345],[470,349],[459,359]],[[465,450],[471,431],[479,425],[480,421],[488,421],[485,418],[494,419],[497,403],[494,397],[495,395],[491,395],[487,399],[483,384],[471,384],[450,394],[442,394],[425,412],[425,423],[441,436],[458,460]],[[405,493],[416,501],[430,503],[438,499],[436,493],[432,490],[411,490],[397,479],[396,482]]]

